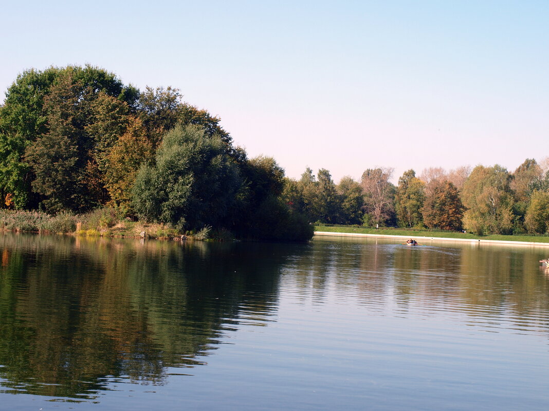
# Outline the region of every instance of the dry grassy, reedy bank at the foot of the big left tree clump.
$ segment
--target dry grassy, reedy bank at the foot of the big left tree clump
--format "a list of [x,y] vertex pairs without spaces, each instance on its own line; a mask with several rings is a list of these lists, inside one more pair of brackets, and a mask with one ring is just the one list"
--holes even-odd
[[41,212],[0,210],[0,230],[72,234],[88,237],[142,237],[178,238],[182,235],[194,239],[228,239],[231,233],[213,231],[209,227],[197,232],[180,232],[165,224],[150,224],[144,221],[119,219],[113,209],[96,209],[86,214],[59,213],[49,215]]

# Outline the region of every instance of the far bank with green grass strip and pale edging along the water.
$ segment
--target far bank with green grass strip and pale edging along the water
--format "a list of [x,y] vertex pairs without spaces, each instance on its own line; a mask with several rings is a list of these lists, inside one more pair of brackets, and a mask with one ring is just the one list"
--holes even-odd
[[404,231],[390,229],[366,229],[361,227],[326,227],[316,226],[315,236],[338,236],[338,237],[372,237],[389,238],[399,241],[406,241],[408,238],[415,239],[417,242],[468,242],[483,244],[508,244],[518,246],[542,246],[549,247],[549,237],[537,236],[475,236],[469,233],[460,232],[422,232],[422,231]]

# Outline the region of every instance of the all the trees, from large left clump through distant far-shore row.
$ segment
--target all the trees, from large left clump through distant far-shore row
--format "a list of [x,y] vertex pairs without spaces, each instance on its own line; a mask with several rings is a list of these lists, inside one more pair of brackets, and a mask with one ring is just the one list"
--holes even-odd
[[285,177],[248,158],[219,117],[177,89],[140,91],[93,66],[21,73],[0,106],[0,208],[55,214],[112,207],[180,230],[303,239],[312,222],[488,233],[549,230],[547,164],[526,159],[450,172],[368,168],[335,184],[326,169]]

